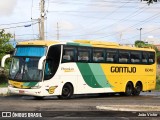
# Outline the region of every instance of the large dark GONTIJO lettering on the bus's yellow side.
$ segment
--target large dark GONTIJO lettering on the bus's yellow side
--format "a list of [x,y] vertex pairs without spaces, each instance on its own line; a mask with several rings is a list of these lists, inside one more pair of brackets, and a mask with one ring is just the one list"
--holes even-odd
[[111,67],[112,73],[136,73],[136,67],[118,67],[112,66]]

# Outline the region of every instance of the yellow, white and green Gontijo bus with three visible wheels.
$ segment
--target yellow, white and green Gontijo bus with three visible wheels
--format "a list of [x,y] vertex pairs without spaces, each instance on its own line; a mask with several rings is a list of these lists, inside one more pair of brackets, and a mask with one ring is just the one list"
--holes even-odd
[[117,43],[19,42],[9,71],[9,92],[37,97],[124,93],[139,95],[156,85],[155,50]]

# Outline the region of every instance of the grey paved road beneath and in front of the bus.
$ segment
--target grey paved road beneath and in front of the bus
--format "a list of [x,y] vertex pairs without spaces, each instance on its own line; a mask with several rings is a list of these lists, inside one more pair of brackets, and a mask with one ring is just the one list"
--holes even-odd
[[[112,108],[101,109],[107,106],[112,106],[117,108],[116,112],[112,111]],[[119,111],[119,107],[129,108],[133,106],[138,109],[138,112],[124,112]],[[140,106],[140,107],[138,107]],[[142,109],[143,108],[143,109]],[[136,109],[136,111],[137,111]],[[144,109],[148,109],[147,112],[142,112]],[[38,112],[42,116],[52,117],[56,119],[70,119],[79,118],[83,116],[83,119],[98,119],[102,117],[116,116],[119,119],[138,119],[142,118],[143,115],[145,119],[150,119],[152,115],[157,115],[158,117],[153,117],[152,119],[160,118],[160,93],[142,93],[140,96],[106,96],[100,97],[96,95],[82,95],[75,96],[70,100],[59,100],[57,97],[45,97],[43,100],[36,100],[31,96],[0,96],[0,111],[11,111],[16,113],[28,112]],[[118,111],[118,112],[117,112]],[[153,113],[153,114],[152,114]],[[144,117],[144,116],[143,116]],[[101,119],[102,119],[101,118]],[[116,118],[116,119],[117,119]]]

